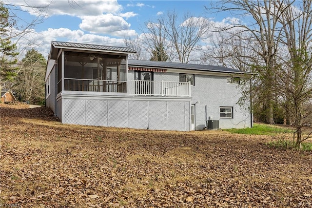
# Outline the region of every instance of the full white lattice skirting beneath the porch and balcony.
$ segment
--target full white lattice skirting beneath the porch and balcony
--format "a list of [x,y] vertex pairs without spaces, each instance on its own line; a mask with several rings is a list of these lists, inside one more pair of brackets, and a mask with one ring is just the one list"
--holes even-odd
[[[190,101],[61,99],[62,123],[190,130]],[[59,106],[58,106],[58,109]],[[59,116],[60,117],[60,116]]]

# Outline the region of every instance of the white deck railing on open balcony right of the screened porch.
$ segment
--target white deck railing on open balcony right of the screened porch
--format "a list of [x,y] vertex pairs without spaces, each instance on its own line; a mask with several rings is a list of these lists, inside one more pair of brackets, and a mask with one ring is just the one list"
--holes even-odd
[[156,96],[191,96],[191,83],[129,80],[128,94]]

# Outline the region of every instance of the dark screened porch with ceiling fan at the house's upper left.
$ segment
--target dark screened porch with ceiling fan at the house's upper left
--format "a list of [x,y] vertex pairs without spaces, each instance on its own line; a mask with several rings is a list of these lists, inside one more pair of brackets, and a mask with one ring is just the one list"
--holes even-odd
[[64,91],[126,93],[126,59],[126,55],[65,50],[58,58],[58,66],[61,66],[58,67],[58,93],[62,89]]

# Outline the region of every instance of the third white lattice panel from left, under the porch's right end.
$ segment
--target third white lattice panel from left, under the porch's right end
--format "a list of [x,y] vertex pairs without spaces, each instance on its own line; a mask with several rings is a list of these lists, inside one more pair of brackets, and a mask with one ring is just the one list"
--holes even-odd
[[128,101],[108,101],[108,126],[128,127]]

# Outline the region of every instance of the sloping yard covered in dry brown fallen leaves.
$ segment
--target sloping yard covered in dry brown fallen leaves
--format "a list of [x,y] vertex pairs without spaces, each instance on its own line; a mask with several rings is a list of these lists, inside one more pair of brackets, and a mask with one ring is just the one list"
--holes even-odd
[[1,206],[312,206],[312,152],[271,136],[63,125],[26,107],[1,104]]

